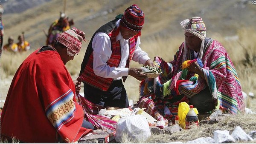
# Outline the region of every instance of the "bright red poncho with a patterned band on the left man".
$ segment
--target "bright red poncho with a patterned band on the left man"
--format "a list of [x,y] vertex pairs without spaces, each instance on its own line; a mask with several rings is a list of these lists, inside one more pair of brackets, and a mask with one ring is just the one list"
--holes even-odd
[[1,136],[27,143],[75,142],[89,133],[75,85],[56,51],[38,50],[18,68],[1,115]]

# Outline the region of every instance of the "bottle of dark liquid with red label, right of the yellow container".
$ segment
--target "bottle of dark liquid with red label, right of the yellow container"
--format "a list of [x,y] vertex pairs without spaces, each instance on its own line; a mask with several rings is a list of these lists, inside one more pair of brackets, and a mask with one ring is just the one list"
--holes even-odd
[[192,125],[192,123],[195,123],[198,126],[198,116],[195,113],[195,111],[193,110],[194,106],[193,105],[189,105],[189,112],[186,115],[186,129],[190,129],[190,126]]

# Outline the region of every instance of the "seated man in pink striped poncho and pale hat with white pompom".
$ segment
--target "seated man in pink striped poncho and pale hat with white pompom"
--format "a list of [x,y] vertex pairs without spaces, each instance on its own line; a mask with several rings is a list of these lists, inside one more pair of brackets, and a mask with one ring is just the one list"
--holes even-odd
[[172,62],[160,57],[154,61],[163,73],[140,84],[138,107],[155,119],[172,119],[180,102],[194,105],[199,113],[214,108],[232,114],[244,112],[241,85],[236,69],[220,42],[206,37],[201,17],[192,17],[180,23],[185,41]]

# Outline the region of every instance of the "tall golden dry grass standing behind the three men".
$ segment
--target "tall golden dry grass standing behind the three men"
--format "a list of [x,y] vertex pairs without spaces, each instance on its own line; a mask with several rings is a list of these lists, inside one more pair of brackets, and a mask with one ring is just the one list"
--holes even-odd
[[[220,34],[212,34],[212,38],[220,41],[224,47],[227,49],[230,58],[232,59],[237,73],[239,75],[239,80],[242,85],[242,90],[245,93],[253,92],[256,93],[256,43],[253,41],[256,39],[256,34],[251,33],[253,28],[241,29],[237,31],[238,40],[225,40],[225,37]],[[182,31],[181,31],[182,33]],[[150,37],[149,39],[142,40],[140,45],[148,55],[153,59],[154,56],[161,56],[166,61],[171,61],[177,48],[183,42],[183,37],[161,37],[156,35]],[[72,75],[73,79],[78,77],[81,62],[84,57],[85,49],[88,43],[83,43],[83,48],[79,55],[75,56],[75,59],[67,63],[67,69]],[[1,100],[5,99],[7,94],[8,85],[19,65],[24,59],[31,53],[28,51],[22,54],[12,54],[3,52],[1,57]],[[131,67],[141,67],[137,62],[131,62]],[[137,101],[139,99],[139,85],[140,81],[128,76],[128,79],[124,83],[125,88],[128,93],[129,99]],[[6,87],[7,86],[7,87]],[[7,89],[7,90],[6,90]],[[83,92],[83,89],[81,90]],[[3,103],[1,103],[2,105]],[[253,105],[247,103],[248,108],[252,108],[254,111],[256,108]]]

